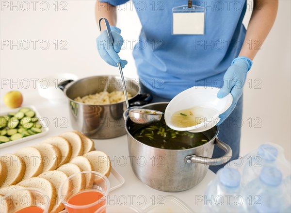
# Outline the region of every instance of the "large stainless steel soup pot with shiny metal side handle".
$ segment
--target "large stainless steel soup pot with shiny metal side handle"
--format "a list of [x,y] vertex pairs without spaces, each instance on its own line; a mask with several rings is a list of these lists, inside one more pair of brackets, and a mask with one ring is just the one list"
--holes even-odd
[[[147,109],[165,111],[167,102],[143,106]],[[142,107],[142,108],[143,108]],[[163,119],[163,117],[162,117]],[[146,185],[161,191],[179,192],[197,185],[206,175],[209,165],[220,165],[230,160],[231,148],[218,140],[219,127],[213,127],[203,134],[209,139],[204,145],[189,149],[162,149],[150,147],[135,139],[131,133],[137,126],[126,118],[129,156],[134,174]],[[214,146],[226,153],[220,158],[211,158]]]

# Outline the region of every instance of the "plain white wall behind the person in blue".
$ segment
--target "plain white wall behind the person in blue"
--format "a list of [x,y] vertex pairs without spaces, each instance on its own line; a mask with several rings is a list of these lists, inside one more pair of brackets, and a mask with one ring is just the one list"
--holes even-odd
[[[1,6],[3,2],[1,1]],[[30,3],[28,11],[24,11],[27,5],[22,1],[13,1],[14,4],[18,2],[19,11],[16,7],[10,8],[11,1],[6,2],[9,6],[1,7],[0,11],[1,104],[7,91],[18,89],[24,95],[24,104],[29,105],[25,97],[36,89],[33,88],[31,79],[42,79],[53,73],[70,72],[77,74],[79,78],[119,74],[117,68],[101,60],[96,49],[95,39],[99,32],[94,16],[95,0],[66,0],[65,3],[59,1],[57,11],[53,4],[54,0],[48,1],[48,11],[43,11],[47,6],[42,3],[43,1],[37,1],[35,11],[31,1],[28,1]],[[67,11],[60,11],[62,6],[65,6]],[[125,11],[124,8],[120,7],[118,11],[118,27],[122,29],[125,41],[132,39],[137,41],[141,29],[140,22],[131,2],[127,4]],[[290,8],[291,1],[280,0],[275,25],[248,74],[248,80],[252,85],[247,82],[244,88],[241,156],[263,142],[273,142],[284,148],[287,159],[291,158]],[[248,8],[243,21],[245,26],[250,15],[251,11]],[[38,42],[35,50],[32,42],[30,48],[24,50],[27,47],[25,43],[22,43],[23,47],[17,49],[16,46],[4,46],[4,40],[9,42],[12,40],[14,43],[17,40],[19,42],[38,40]],[[40,48],[40,41],[43,40],[48,40],[48,50]],[[57,50],[53,43],[55,40],[58,40],[59,44]],[[65,44],[60,43],[61,40],[67,42],[66,50],[60,50]],[[128,46],[122,50],[120,56],[129,62],[124,69],[125,76],[137,78],[131,50]],[[5,79],[9,82],[7,85],[3,84]],[[23,79],[30,81],[29,88],[23,88],[27,87],[27,82]],[[12,81],[16,84],[12,84]],[[259,82],[260,88],[255,89]],[[255,128],[255,124],[259,127]]]

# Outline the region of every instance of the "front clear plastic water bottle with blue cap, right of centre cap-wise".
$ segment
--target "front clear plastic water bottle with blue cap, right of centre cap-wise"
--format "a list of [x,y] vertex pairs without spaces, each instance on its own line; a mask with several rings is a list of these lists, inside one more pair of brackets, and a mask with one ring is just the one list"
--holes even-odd
[[[244,200],[248,212],[275,212],[285,209],[282,173],[273,166],[263,166],[259,177],[245,187]],[[270,197],[271,196],[271,197]],[[272,201],[275,199],[276,201]]]

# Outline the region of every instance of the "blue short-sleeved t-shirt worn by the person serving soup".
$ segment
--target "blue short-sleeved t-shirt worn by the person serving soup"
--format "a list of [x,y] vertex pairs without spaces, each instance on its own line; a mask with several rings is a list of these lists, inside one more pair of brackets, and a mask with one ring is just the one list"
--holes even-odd
[[[101,0],[112,5],[128,0]],[[142,24],[133,49],[140,81],[155,95],[173,98],[194,85],[221,87],[242,48],[246,0],[193,0],[206,8],[204,35],[173,35],[172,9],[188,0],[132,0]],[[189,20],[189,25],[191,20]]]

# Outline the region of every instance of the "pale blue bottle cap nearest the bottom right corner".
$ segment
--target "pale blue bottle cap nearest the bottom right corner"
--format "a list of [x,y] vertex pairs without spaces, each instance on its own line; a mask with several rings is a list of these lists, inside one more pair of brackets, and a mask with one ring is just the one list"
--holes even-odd
[[273,166],[264,166],[259,174],[259,179],[270,186],[278,186],[282,181],[282,173]]

